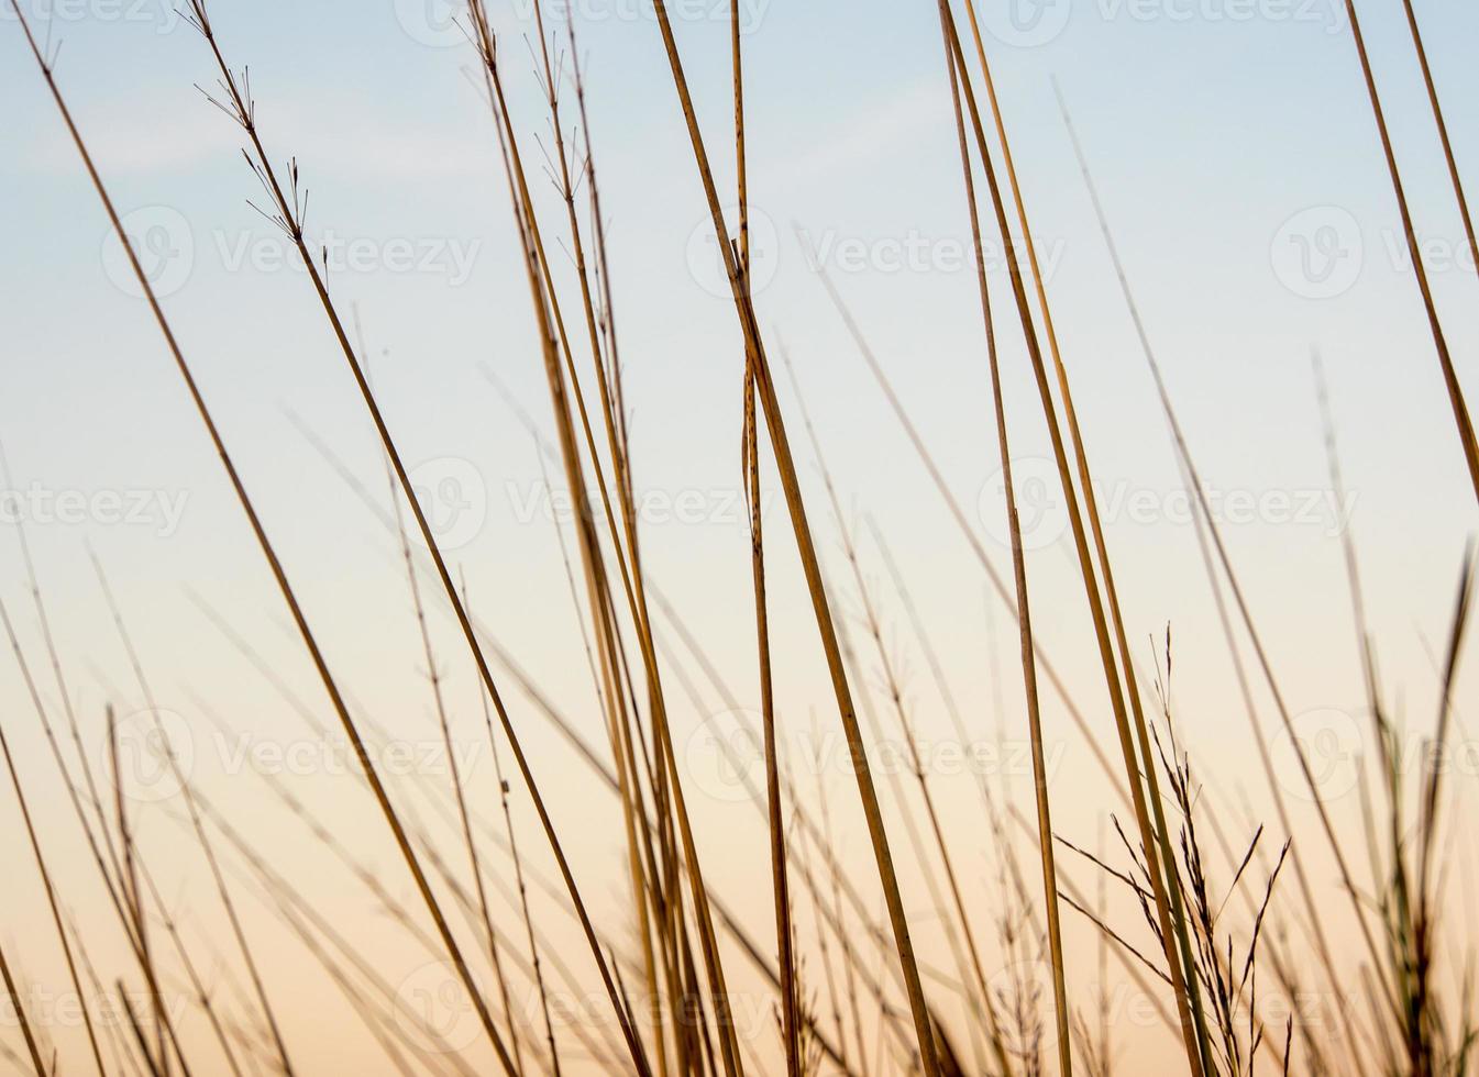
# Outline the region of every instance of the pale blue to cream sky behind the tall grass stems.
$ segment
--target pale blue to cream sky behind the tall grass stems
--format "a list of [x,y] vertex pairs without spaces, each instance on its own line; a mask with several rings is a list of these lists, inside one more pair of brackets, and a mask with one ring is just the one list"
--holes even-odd
[[[392,740],[413,752],[424,748],[435,733],[399,554],[339,471],[355,476],[374,505],[389,504],[373,427],[293,251],[248,204],[260,204],[260,189],[238,152],[240,131],[197,89],[213,84],[203,41],[164,0],[24,4],[41,24],[50,13],[59,84],[330,662]],[[490,7],[522,149],[538,163],[552,133],[532,69],[531,4]],[[732,189],[728,6],[674,0],[670,7],[719,183]],[[742,7],[756,301],[776,362],[788,358],[799,387],[778,362],[834,603],[858,632],[836,522],[800,434],[802,402],[870,585],[887,595],[889,632],[898,637],[926,742],[948,743],[950,727],[874,527],[908,579],[979,736],[1001,739],[992,774],[1029,798],[1029,771],[1012,751],[1025,733],[1009,613],[988,594],[970,545],[816,272],[858,319],[976,535],[1006,570],[1000,459],[935,4],[747,0]],[[732,304],[649,6],[575,0],[572,9],[590,105],[586,134],[608,216],[645,560],[750,712],[757,703],[740,492],[742,346]],[[216,0],[211,12],[228,59],[250,66],[269,154],[296,158],[305,177],[308,230],[328,261],[330,290],[356,312],[387,423],[444,550],[467,575],[479,616],[532,681],[599,737],[556,541],[568,533],[568,499],[558,480],[550,485],[558,467],[550,479],[541,474],[521,418],[527,412],[546,437],[553,430],[528,291],[497,142],[470,77],[476,58],[456,12],[442,0]],[[1479,118],[1479,75],[1467,62],[1479,10],[1418,0],[1417,13],[1467,176],[1479,154],[1469,139]],[[1359,15],[1438,307],[1460,378],[1472,386],[1479,282],[1411,38],[1396,3],[1368,0]],[[1333,780],[1341,783],[1346,752],[1359,748],[1365,728],[1341,536],[1349,529],[1359,550],[1384,681],[1415,739],[1436,705],[1432,653],[1445,640],[1476,524],[1344,4],[992,0],[981,4],[981,18],[1130,635],[1149,669],[1170,626],[1179,733],[1194,758],[1205,759],[1211,787],[1232,802],[1244,792],[1266,799],[1185,485],[1057,111],[1055,78],[1290,709],[1302,736],[1334,746]],[[547,19],[562,30],[565,7],[547,9]],[[568,68],[568,56],[561,62]],[[143,706],[90,548],[160,705],[177,715],[195,751],[203,787],[228,814],[251,820],[325,904],[342,901],[336,907],[346,923],[374,929],[362,901],[346,898],[327,872],[315,879],[321,854],[288,820],[251,814],[260,787],[241,771],[243,737],[299,752],[305,773],[284,765],[315,810],[387,876],[396,870],[351,777],[315,755],[318,739],[305,733],[288,697],[253,671],[206,612],[223,616],[296,697],[327,715],[9,7],[0,15],[0,100],[7,387],[0,440],[71,694],[93,730],[89,743],[98,740],[105,703],[124,714]],[[568,83],[562,108],[568,134]],[[550,185],[538,198],[550,226],[562,223]],[[1010,310],[1000,236],[989,235],[986,245],[1013,458],[1028,482],[1034,619],[1100,742],[1111,745],[1060,495],[1046,482],[1049,443]],[[566,261],[558,273],[566,285],[574,279]],[[1327,474],[1316,352],[1346,501]],[[774,474],[768,482],[775,490]],[[836,714],[785,508],[774,495],[766,504],[778,693],[800,765],[813,728],[836,736]],[[0,598],[38,650],[9,536],[0,536]],[[448,684],[461,697],[458,743],[475,753],[476,779],[491,780],[491,762],[476,755],[470,665],[445,612],[438,607],[432,620]],[[680,653],[676,628],[669,632]],[[856,644],[867,650],[861,632]],[[871,656],[864,662],[877,665]],[[19,677],[0,675],[0,691],[18,715],[18,755],[34,761],[27,780],[49,795],[61,847],[75,845],[65,872],[86,888],[90,866],[59,807],[35,722],[22,711]],[[46,691],[50,697],[52,687]],[[620,835],[605,793],[590,787],[528,699],[515,696],[538,768],[577,793],[561,798],[556,821],[574,835],[593,889],[615,904]],[[704,731],[704,719],[723,728],[728,711],[698,684],[680,721],[685,759],[703,793],[701,826],[745,836],[714,875],[720,886],[744,892],[765,878],[757,875],[763,832],[744,814],[734,776]],[[213,731],[211,714],[231,737]],[[1109,795],[1059,703],[1049,705],[1046,721],[1053,784],[1063,790],[1060,827],[1093,845]],[[1278,765],[1297,792],[1287,759]],[[843,847],[865,869],[847,779],[836,765],[821,770]],[[970,787],[941,783],[969,817]],[[1343,793],[1353,796],[1353,787],[1344,782]],[[142,808],[143,826],[167,844],[175,821],[170,798],[160,799],[163,807]],[[0,813],[12,813],[9,801]],[[966,832],[975,836],[975,826]],[[972,873],[989,894],[984,858]],[[182,901],[207,894],[198,870],[179,866],[172,875]],[[404,889],[398,876],[395,886]],[[7,907],[0,938],[9,943],[21,934],[15,925],[33,917],[43,923],[35,897],[13,919]],[[927,898],[916,898],[927,916]],[[763,901],[745,913],[766,928]],[[1092,953],[1090,943],[1092,934],[1075,928],[1075,953]],[[929,946],[938,956],[941,941],[929,935]],[[414,965],[413,957],[405,962]],[[37,975],[53,960],[37,946]],[[287,969],[309,968],[309,959],[282,960],[274,975],[293,991],[297,981]],[[308,1050],[333,1050],[315,1040],[311,1021],[294,1016],[293,1024],[314,1044]]]

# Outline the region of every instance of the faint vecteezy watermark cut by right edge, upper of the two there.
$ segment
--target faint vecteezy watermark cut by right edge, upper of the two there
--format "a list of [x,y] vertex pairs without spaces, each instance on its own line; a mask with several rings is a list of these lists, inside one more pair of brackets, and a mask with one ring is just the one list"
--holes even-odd
[[[1414,245],[1429,276],[1475,273],[1475,251],[1466,236],[1417,232]],[[1371,264],[1411,273],[1412,247],[1401,229],[1373,232],[1349,210],[1312,205],[1279,225],[1269,242],[1269,264],[1279,284],[1300,298],[1336,298]]]

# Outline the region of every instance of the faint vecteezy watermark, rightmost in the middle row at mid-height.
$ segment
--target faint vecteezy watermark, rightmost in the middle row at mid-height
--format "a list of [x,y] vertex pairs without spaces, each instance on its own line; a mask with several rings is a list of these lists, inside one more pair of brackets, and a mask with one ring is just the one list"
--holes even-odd
[[[1041,457],[1013,459],[1012,488],[1023,550],[1043,550],[1068,533],[1068,501],[1053,461]],[[1010,548],[1006,490],[1006,471],[997,470],[981,488],[976,508],[986,533]],[[1202,496],[1220,526],[1307,527],[1322,538],[1338,538],[1350,527],[1359,495],[1347,490],[1341,499],[1334,490],[1313,486],[1226,490],[1204,486]],[[1199,511],[1197,490],[1183,486],[1157,489],[1128,480],[1094,483],[1094,499],[1106,526],[1191,526]]]

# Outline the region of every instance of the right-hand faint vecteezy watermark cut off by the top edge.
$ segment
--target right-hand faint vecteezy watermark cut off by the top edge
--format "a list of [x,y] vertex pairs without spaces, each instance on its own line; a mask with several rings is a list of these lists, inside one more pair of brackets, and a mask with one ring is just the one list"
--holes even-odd
[[1075,10],[1100,22],[1344,25],[1341,0],[1003,0],[984,4],[981,21],[1003,44],[1032,49],[1056,41]]

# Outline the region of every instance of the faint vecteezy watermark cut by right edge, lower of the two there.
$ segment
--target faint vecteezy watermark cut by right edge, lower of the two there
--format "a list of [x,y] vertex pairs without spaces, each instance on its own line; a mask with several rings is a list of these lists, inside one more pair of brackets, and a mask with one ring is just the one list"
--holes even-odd
[[[1307,802],[1349,796],[1361,784],[1362,767],[1384,765],[1375,736],[1370,715],[1328,706],[1293,715],[1269,745],[1273,774],[1285,792]],[[1429,737],[1399,730],[1386,736],[1390,764],[1401,774],[1479,777],[1479,742],[1448,737],[1439,749]]]

